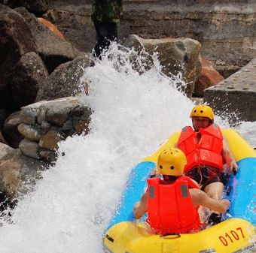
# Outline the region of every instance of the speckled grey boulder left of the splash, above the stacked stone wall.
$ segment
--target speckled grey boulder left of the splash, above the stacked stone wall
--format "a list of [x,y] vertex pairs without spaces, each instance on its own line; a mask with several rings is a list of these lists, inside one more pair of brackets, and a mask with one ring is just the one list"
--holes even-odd
[[84,74],[84,69],[89,66],[90,59],[86,55],[59,65],[38,91],[36,101],[53,100],[78,94],[81,86],[85,85],[81,83],[80,79]]

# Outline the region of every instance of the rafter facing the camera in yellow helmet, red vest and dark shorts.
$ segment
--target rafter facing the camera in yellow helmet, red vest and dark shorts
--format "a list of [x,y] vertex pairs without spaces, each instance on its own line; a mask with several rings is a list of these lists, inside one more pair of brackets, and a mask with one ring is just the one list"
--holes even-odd
[[230,172],[236,173],[238,166],[221,129],[214,123],[212,108],[199,104],[191,110],[190,118],[194,129],[183,128],[175,145],[187,157],[184,175],[194,179],[209,197],[219,200],[227,178],[224,162]]

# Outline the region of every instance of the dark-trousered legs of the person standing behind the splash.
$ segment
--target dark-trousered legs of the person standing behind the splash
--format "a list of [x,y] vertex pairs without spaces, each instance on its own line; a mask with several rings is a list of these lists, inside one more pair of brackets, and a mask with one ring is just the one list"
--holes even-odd
[[117,23],[94,21],[96,29],[96,45],[94,56],[101,59],[101,54],[108,49],[111,41],[117,41]]

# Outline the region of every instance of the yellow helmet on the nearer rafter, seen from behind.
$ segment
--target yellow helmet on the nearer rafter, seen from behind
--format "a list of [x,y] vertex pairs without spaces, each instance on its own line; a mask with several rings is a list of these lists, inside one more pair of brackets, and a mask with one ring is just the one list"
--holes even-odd
[[158,156],[157,171],[161,175],[181,176],[186,164],[184,152],[181,149],[170,148]]

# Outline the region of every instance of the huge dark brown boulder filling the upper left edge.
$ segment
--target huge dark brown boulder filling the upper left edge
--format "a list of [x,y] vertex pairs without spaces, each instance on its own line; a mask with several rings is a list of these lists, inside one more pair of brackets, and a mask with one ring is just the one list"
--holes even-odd
[[0,4],[0,108],[19,110],[11,98],[14,68],[25,53],[35,52],[35,38],[20,14]]

